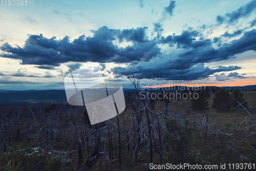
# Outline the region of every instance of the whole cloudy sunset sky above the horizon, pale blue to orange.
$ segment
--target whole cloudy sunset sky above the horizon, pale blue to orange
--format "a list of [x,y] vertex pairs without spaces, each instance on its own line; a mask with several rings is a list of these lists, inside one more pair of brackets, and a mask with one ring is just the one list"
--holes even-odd
[[124,88],[254,85],[255,51],[256,0],[0,2],[1,90],[64,89],[93,62]]

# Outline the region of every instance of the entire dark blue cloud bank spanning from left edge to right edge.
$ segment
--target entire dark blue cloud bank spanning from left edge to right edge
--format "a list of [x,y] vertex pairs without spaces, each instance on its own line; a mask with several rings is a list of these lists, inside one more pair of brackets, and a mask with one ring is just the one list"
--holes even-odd
[[[208,68],[204,67],[205,62],[226,60],[249,50],[256,51],[255,29],[245,32],[239,39],[219,44],[218,48],[214,48],[212,43],[220,42],[221,37],[216,37],[212,41],[204,39],[197,30],[184,30],[180,35],[173,34],[150,40],[146,29],[140,27],[118,30],[102,27],[93,31],[93,36],[82,35],[73,41],[70,41],[68,36],[56,40],[55,37],[46,38],[41,34],[30,35],[23,48],[3,44],[0,49],[7,53],[1,56],[21,59],[22,64],[38,65],[37,68],[41,69],[51,69],[61,63],[73,62],[68,65],[69,72],[79,68],[79,62],[127,63],[126,68],[112,70],[117,77],[140,73],[140,78],[193,80],[207,78],[218,72],[241,69],[238,66]],[[159,29],[161,31],[161,27],[156,25],[156,30]],[[241,32],[226,32],[223,36],[233,37]],[[123,41],[132,42],[132,45],[122,48],[114,44]],[[179,51],[168,55],[162,54],[159,44],[176,46]],[[62,76],[66,75],[65,72],[60,72]],[[46,73],[45,76],[51,75]]]

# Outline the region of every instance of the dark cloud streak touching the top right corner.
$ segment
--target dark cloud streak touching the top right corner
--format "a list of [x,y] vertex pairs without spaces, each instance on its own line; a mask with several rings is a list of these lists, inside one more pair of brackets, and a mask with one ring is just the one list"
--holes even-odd
[[229,24],[237,22],[242,17],[249,16],[256,9],[256,0],[250,1],[239,9],[226,13],[225,16],[218,15],[216,20],[218,24],[227,22]]

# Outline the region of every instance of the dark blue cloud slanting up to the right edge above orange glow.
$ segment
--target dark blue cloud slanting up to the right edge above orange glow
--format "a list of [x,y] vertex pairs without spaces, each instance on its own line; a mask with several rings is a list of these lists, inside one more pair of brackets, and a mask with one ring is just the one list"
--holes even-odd
[[[186,36],[182,36],[186,34]],[[239,70],[238,66],[219,66],[218,68],[204,67],[203,63],[221,61],[229,58],[233,58],[234,55],[240,54],[249,50],[256,51],[256,30],[247,31],[244,35],[236,40],[232,40],[228,44],[223,44],[218,49],[212,47],[210,40],[208,44],[204,44],[200,48],[194,48],[197,41],[194,36],[198,36],[197,32],[184,31],[181,35],[168,36],[161,38],[160,42],[163,44],[177,44],[177,47],[183,48],[177,54],[162,55],[156,58],[152,58],[147,62],[139,62],[137,65],[131,65],[127,68],[115,68],[112,70],[116,75],[129,75],[131,73],[138,73],[138,78],[148,79],[172,79],[172,80],[193,80],[207,78],[209,75],[213,75],[218,72],[228,72]],[[167,39],[168,38],[168,39]],[[203,40],[198,40],[198,42]],[[218,39],[216,42],[219,41]],[[186,50],[186,48],[189,48]],[[193,49],[191,49],[193,48]],[[229,77],[245,78],[243,76],[228,76],[224,75],[228,79]],[[223,80],[224,76],[220,76],[218,80]]]

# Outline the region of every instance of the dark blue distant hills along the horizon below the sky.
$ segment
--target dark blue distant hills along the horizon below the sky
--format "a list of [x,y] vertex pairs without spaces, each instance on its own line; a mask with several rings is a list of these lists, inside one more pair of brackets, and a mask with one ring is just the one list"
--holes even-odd
[[[188,90],[197,90],[195,88],[187,88]],[[181,89],[179,86],[170,87],[169,90],[171,91],[182,91],[184,88]],[[218,87],[209,87],[217,89]],[[256,85],[249,85],[249,86],[236,86],[236,87],[221,87],[227,90],[231,90],[231,88],[238,88],[240,91],[248,91],[255,90]],[[154,90],[154,89],[147,89],[144,91],[148,92],[160,92],[163,91],[162,89]],[[123,89],[124,95],[126,96],[128,93],[135,94],[134,89]],[[25,90],[25,91],[15,91],[15,90],[0,90],[0,103],[37,103],[37,102],[56,102],[56,101],[67,101],[67,96],[65,90]]]

